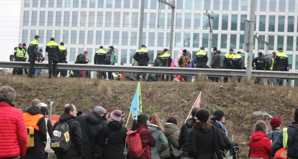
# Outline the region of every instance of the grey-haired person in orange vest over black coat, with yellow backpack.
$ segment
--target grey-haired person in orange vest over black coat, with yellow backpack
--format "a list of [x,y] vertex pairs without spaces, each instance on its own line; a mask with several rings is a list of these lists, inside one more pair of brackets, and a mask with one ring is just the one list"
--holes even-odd
[[[31,101],[31,106],[24,113],[25,125],[27,126],[27,132],[31,134],[30,130],[34,135],[33,140],[28,140],[27,151],[24,157],[21,159],[32,159],[32,158],[44,158],[44,149],[46,148],[46,121],[40,110],[41,101],[34,99]],[[33,146],[32,146],[33,145]]]

